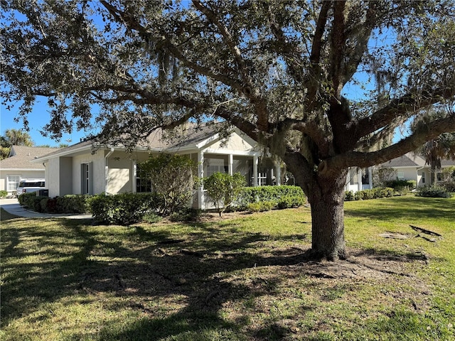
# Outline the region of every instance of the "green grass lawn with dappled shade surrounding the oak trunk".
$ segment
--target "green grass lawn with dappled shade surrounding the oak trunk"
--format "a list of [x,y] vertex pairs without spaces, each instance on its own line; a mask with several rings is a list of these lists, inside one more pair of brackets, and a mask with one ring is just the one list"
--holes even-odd
[[132,227],[1,220],[2,341],[455,340],[454,198],[346,202],[338,263],[306,260],[305,207]]

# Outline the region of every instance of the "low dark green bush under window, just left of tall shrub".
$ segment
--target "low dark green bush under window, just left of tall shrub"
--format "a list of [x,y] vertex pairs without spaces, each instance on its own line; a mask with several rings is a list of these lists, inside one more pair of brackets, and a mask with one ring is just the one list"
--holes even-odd
[[124,226],[140,222],[146,214],[157,212],[162,205],[163,199],[156,193],[101,194],[90,200],[95,222]]

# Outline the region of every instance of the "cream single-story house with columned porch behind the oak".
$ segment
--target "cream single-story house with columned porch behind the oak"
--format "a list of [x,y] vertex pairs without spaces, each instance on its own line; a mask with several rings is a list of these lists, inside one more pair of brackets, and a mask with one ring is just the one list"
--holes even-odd
[[[46,188],[49,196],[67,194],[141,193],[150,190],[137,175],[141,161],[149,154],[160,152],[187,155],[198,165],[198,177],[215,172],[241,173],[247,185],[282,183],[281,163],[264,158],[262,149],[238,129],[222,138],[213,127],[181,130],[184,137],[165,139],[156,130],[146,143],[136,146],[131,153],[124,146],[96,146],[93,141],[62,148],[36,158],[33,163],[45,165]],[[208,208],[211,202],[202,190],[193,200],[193,207]]]

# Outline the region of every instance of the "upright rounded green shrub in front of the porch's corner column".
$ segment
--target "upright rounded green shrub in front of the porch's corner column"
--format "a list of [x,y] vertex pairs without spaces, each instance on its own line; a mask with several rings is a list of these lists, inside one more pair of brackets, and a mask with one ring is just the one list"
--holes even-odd
[[216,172],[208,178],[204,178],[203,185],[221,217],[226,208],[237,200],[240,191],[245,186],[245,177],[240,173],[230,175]]

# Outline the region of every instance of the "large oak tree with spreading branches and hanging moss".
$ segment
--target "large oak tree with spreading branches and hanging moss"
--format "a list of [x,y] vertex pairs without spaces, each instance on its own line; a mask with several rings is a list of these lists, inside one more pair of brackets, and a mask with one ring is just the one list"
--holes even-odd
[[[316,256],[346,256],[349,167],[455,131],[453,0],[1,5],[2,97],[23,101],[18,119],[44,96],[51,136],[95,117],[100,141],[127,134],[129,146],[157,128],[222,119],[294,173],[311,204]],[[444,114],[391,142],[431,107]]]

